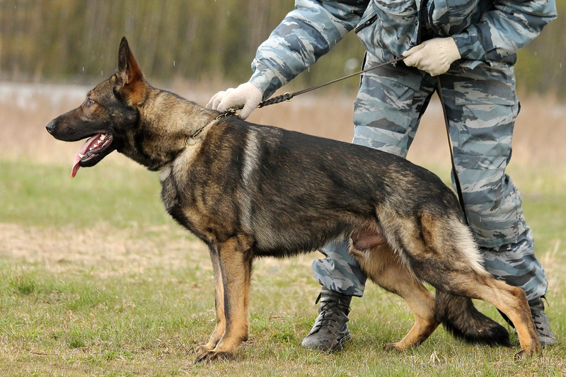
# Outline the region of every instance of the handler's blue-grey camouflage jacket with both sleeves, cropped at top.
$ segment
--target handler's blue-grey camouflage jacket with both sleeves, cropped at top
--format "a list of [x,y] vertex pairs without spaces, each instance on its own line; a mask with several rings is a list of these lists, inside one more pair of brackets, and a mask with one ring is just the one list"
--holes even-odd
[[556,15],[555,0],[296,0],[258,48],[250,82],[270,97],[351,30],[377,56],[400,57],[430,37],[451,36],[458,64],[514,64]]

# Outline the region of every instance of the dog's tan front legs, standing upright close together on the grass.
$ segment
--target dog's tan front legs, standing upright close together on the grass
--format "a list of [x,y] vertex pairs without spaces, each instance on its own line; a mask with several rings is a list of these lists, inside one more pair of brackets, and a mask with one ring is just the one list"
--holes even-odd
[[[216,279],[216,328],[207,344],[197,347],[195,363],[231,359],[248,339],[248,308],[252,254],[246,238],[233,237],[218,249]],[[212,251],[211,251],[212,253]],[[219,269],[216,272],[216,268]],[[219,293],[220,292],[220,293]]]

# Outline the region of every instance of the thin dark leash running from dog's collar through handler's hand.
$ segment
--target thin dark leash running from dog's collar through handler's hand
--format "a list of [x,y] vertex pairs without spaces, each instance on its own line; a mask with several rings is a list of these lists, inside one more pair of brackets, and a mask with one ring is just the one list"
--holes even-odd
[[[275,103],[282,103],[283,101],[289,102],[294,97],[296,97],[296,95],[308,93],[308,92],[314,91],[318,88],[323,88],[324,86],[327,86],[327,85],[330,85],[330,84],[333,84],[333,83],[337,83],[338,81],[350,79],[350,77],[358,76],[360,74],[365,74],[366,72],[373,71],[374,69],[381,68],[382,66],[387,66],[389,64],[395,64],[397,62],[402,61],[403,59],[405,59],[405,58],[400,57],[400,58],[397,58],[397,59],[393,59],[393,60],[390,60],[389,62],[379,64],[379,65],[376,65],[376,66],[372,66],[371,68],[364,69],[362,71],[355,72],[354,74],[349,74],[347,76],[340,77],[340,79],[335,79],[335,80],[332,80],[332,81],[328,81],[327,83],[322,83],[320,85],[311,86],[310,88],[303,89],[302,91],[296,91],[294,93],[284,93],[282,95],[277,95],[276,97],[272,97],[272,98],[269,98],[265,101],[260,102],[260,104],[258,105],[258,108],[264,108],[265,106],[275,105]],[[441,85],[440,85],[440,76],[437,76],[437,93],[438,93],[440,104],[441,104],[441,107],[442,107],[442,113],[444,115],[444,124],[446,125],[446,135],[448,137],[448,145],[449,145],[449,148],[450,148],[450,161],[452,163],[452,172],[454,173],[454,183],[456,184],[456,192],[458,193],[458,202],[460,202],[460,207],[462,209],[462,212],[463,212],[463,215],[464,215],[464,220],[466,221],[466,225],[469,226],[468,216],[466,216],[466,207],[464,206],[462,187],[460,185],[460,178],[458,178],[458,171],[456,170],[456,162],[454,161],[454,150],[453,150],[454,146],[452,145],[452,139],[450,138],[450,124],[449,124],[449,120],[448,120],[448,114],[446,112],[446,105],[444,103],[444,96],[442,95],[442,88],[441,88]],[[238,109],[229,109],[224,114],[219,115],[219,117],[228,116],[228,115],[236,115],[237,112],[238,112]],[[216,118],[216,119],[218,119],[218,118]],[[194,135],[194,137],[197,136],[197,134],[199,134],[200,131],[202,131],[202,129],[197,131],[197,133]],[[193,140],[194,140],[194,137],[192,137]]]

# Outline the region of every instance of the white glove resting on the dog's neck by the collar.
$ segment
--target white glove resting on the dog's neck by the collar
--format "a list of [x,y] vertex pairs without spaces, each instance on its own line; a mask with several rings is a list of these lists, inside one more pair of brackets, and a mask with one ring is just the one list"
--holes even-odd
[[230,108],[242,108],[238,117],[246,119],[258,107],[262,93],[253,83],[243,83],[238,88],[229,88],[212,96],[207,108],[224,112]]

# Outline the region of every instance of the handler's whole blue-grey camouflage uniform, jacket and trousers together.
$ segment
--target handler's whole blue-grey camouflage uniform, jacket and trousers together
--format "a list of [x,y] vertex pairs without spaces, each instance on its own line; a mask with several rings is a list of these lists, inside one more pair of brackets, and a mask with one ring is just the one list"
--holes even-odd
[[[454,37],[462,59],[440,80],[468,221],[487,269],[531,300],[545,294],[547,281],[521,196],[505,174],[519,112],[513,66],[515,52],[555,16],[553,0],[296,0],[259,47],[250,82],[270,97],[354,28],[367,50],[364,68],[432,37]],[[354,103],[354,143],[406,156],[436,83],[402,63],[365,74]],[[323,253],[313,263],[318,282],[362,296],[366,278],[347,242],[337,240]]]

